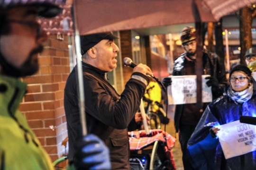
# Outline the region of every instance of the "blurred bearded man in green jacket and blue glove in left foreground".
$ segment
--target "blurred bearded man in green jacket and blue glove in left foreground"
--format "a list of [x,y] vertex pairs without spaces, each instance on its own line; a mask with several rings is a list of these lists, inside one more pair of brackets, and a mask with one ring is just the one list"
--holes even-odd
[[[18,110],[27,85],[18,78],[38,70],[38,53],[47,35],[37,17],[52,18],[58,0],[0,0],[0,169],[54,170],[50,157]],[[108,148],[95,135],[78,143],[68,169],[110,169]]]

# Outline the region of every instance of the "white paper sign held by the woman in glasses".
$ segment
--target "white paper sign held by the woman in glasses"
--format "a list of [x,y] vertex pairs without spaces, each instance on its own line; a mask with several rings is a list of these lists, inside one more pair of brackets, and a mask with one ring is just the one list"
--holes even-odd
[[220,129],[219,143],[226,159],[256,151],[256,125],[237,120],[216,127]]

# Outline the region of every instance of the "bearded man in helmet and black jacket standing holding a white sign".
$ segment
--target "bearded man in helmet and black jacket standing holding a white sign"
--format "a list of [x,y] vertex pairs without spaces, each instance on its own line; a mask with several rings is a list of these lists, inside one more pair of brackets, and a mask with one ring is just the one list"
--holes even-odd
[[[174,61],[173,76],[196,75],[196,34],[194,27],[185,27],[181,32],[181,41],[185,53],[181,54]],[[208,74],[206,84],[211,87],[213,99],[222,95],[226,87],[227,79],[225,67],[219,62],[217,54],[203,51],[202,55],[202,74]],[[170,85],[170,78],[163,79],[165,86]],[[204,103],[203,109],[207,107]],[[179,141],[183,152],[184,170],[193,170],[189,160],[186,157],[187,142],[191,137],[197,123],[199,122],[203,110],[198,110],[196,103],[176,105],[174,124],[176,132],[179,132]]]

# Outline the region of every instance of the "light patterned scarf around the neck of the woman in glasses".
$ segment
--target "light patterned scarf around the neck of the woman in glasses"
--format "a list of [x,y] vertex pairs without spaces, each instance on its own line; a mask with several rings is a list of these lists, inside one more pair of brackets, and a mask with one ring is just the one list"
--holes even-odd
[[231,86],[227,90],[227,95],[235,101],[235,103],[244,103],[253,95],[253,84],[243,91],[234,91]]

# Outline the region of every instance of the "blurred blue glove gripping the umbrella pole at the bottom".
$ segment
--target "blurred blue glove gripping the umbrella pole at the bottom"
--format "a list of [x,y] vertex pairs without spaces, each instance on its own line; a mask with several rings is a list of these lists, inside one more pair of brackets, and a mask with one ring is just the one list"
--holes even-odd
[[99,137],[86,135],[76,145],[74,165],[76,170],[110,170],[109,149]]

